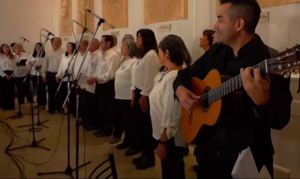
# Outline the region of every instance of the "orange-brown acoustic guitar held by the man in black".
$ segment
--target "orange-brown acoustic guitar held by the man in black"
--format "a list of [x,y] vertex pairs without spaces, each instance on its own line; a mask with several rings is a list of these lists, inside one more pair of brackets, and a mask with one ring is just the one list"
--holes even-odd
[[[259,68],[261,75],[273,73],[284,75],[288,78],[291,73],[298,74],[300,68],[299,58],[300,45],[280,52],[275,58],[267,59],[254,66]],[[185,142],[191,143],[203,125],[212,126],[219,119],[222,107],[222,97],[236,91],[243,86],[241,75],[228,80],[223,78],[218,70],[211,70],[201,80],[197,77],[191,78],[191,92],[201,96],[200,104],[194,111],[187,111],[181,108],[181,132]]]

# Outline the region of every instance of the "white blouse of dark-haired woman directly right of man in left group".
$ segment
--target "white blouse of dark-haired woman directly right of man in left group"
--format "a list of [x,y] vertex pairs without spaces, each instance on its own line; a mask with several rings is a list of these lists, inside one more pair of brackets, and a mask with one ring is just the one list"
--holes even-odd
[[[73,81],[72,72],[73,72],[73,65],[74,65],[74,57],[73,57],[73,60],[70,62],[72,56],[73,56],[73,54],[69,54],[67,57],[66,57],[65,54],[62,54],[62,59],[61,59],[60,64],[59,64],[57,74],[55,75],[56,77],[59,77],[59,78],[62,79],[63,75],[66,72],[66,69],[69,66],[68,73],[70,74],[70,81]],[[70,65],[69,65],[69,63],[70,63]],[[69,79],[66,76],[62,81],[67,82],[67,81],[69,81]]]

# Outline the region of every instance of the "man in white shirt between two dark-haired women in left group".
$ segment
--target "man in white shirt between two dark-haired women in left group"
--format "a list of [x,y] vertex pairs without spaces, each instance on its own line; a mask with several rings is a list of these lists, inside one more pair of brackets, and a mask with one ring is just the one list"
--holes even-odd
[[56,82],[56,74],[59,68],[62,54],[66,52],[62,47],[62,39],[55,37],[52,42],[52,47],[49,52],[46,53],[45,60],[43,62],[41,71],[43,81],[47,83],[48,87],[48,113],[54,114],[55,109],[60,111],[62,106],[58,106],[54,95],[57,91],[59,84]]

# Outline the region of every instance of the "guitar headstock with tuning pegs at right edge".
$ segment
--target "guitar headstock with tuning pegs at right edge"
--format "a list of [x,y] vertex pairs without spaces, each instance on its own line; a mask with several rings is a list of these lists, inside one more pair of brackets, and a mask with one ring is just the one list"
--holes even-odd
[[275,55],[274,58],[266,60],[268,73],[284,75],[288,78],[292,73],[299,74],[300,69],[300,44],[287,48]]

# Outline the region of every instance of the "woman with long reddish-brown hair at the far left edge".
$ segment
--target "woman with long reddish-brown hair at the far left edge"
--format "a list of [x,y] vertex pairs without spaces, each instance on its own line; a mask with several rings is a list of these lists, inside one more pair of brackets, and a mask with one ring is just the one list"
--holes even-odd
[[0,47],[0,108],[3,110],[15,109],[15,81],[13,78],[16,70],[16,56],[12,54],[7,44]]

